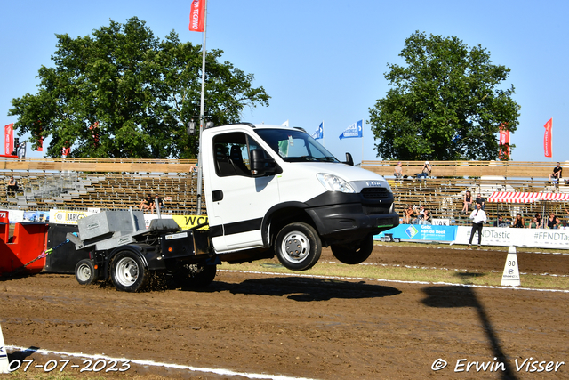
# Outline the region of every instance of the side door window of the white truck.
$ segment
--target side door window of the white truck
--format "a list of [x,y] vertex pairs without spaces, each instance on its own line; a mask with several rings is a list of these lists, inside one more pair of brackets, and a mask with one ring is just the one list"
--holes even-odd
[[[242,175],[251,177],[249,151],[259,144],[245,133],[224,133],[213,138],[215,172],[220,177]],[[265,155],[266,152],[265,152]]]

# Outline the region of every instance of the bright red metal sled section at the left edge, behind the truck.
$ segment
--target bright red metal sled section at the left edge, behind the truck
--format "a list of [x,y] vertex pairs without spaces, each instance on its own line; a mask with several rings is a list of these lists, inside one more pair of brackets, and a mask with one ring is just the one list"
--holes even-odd
[[25,269],[25,264],[41,255],[47,244],[46,223],[16,223],[10,236],[8,213],[0,213],[0,276],[13,271],[19,273],[38,273],[44,269],[45,258],[36,260]]

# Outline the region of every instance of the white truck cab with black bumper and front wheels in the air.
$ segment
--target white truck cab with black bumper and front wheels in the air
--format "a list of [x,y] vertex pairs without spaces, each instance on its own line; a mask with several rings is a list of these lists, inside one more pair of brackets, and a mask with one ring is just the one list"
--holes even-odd
[[239,263],[277,255],[293,271],[331,247],[362,263],[399,223],[383,177],[341,162],[300,128],[219,125],[201,136],[212,249]]

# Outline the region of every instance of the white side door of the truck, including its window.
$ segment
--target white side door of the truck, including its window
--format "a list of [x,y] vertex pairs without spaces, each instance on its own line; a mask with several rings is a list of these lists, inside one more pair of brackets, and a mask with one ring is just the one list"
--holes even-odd
[[208,216],[215,250],[263,247],[262,220],[280,196],[275,175],[252,177],[250,151],[262,148],[242,132],[213,136],[212,148],[215,173]]

